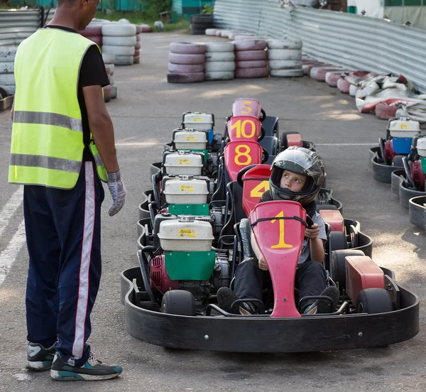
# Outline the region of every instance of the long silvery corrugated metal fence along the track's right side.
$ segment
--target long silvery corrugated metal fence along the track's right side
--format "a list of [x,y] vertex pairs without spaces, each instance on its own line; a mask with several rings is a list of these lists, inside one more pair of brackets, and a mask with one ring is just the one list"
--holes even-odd
[[286,7],[268,0],[216,0],[218,27],[262,37],[300,38],[303,52],[334,65],[403,74],[426,92],[426,31],[376,18]]

